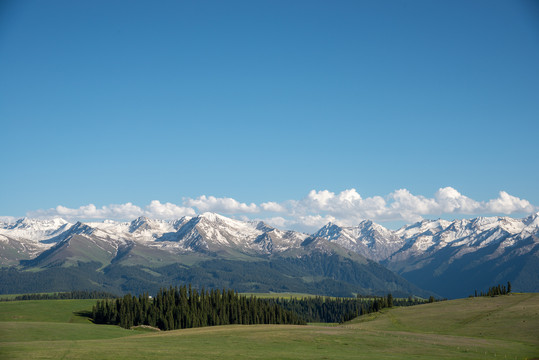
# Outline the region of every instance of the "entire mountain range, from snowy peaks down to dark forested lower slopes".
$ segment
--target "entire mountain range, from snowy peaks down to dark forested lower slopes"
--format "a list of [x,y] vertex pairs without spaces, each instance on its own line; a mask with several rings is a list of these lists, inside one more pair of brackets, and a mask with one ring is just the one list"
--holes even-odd
[[0,292],[154,291],[192,282],[238,291],[461,297],[511,281],[539,291],[539,213],[524,219],[366,220],[314,234],[215,213],[178,220],[0,222]]

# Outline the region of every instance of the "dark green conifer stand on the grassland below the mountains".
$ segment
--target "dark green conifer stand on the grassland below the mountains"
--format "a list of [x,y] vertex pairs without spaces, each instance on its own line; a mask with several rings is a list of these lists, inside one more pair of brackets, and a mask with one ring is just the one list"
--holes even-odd
[[92,318],[98,324],[124,328],[148,325],[161,330],[230,324],[293,324],[345,322],[392,306],[425,303],[421,299],[395,299],[391,294],[374,298],[309,297],[262,299],[233,290],[200,290],[189,286],[98,301]]

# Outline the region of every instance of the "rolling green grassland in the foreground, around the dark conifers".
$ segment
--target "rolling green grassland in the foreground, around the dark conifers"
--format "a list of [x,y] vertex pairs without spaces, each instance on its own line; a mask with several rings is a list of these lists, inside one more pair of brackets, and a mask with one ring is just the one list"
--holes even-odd
[[95,300],[0,303],[1,359],[525,359],[539,357],[539,294],[384,309],[339,326],[161,332],[95,325]]

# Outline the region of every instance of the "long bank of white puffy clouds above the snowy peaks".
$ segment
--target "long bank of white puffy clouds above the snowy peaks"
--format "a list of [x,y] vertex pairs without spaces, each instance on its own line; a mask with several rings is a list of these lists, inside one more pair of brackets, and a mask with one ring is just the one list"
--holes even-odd
[[216,212],[240,219],[260,219],[280,228],[313,230],[332,221],[356,225],[364,219],[380,223],[416,222],[425,217],[451,214],[479,216],[493,214],[531,213],[539,208],[528,200],[500,191],[488,201],[471,199],[452,187],[440,188],[434,196],[414,195],[399,189],[386,196],[363,198],[355,189],[340,193],[311,190],[304,198],[261,204],[242,203],[233,198],[202,195],[183,198],[180,205],[153,200],[145,207],[132,203],[96,207],[93,204],[79,208],[59,205],[52,209],[27,213],[28,217],[50,218],[60,216],[67,220],[111,219],[131,220],[139,216],[157,219],[177,219],[202,212]]

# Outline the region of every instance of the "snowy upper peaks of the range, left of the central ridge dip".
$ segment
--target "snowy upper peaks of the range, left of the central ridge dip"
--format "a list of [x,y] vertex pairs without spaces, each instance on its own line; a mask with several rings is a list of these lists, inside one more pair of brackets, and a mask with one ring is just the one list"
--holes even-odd
[[[239,221],[214,213],[178,220],[156,220],[139,217],[131,222],[88,222],[71,224],[63,219],[21,219],[2,224],[0,242],[5,243],[0,260],[14,265],[20,260],[36,258],[54,246],[78,235],[109,243],[110,256],[125,256],[125,251],[143,248],[164,250],[171,254],[200,252],[240,252],[272,254],[298,248],[308,235],[282,231],[260,221]],[[7,243],[15,250],[7,250]],[[90,240],[89,240],[90,241]],[[13,252],[20,256],[9,258]],[[5,257],[5,259],[4,259]]]

